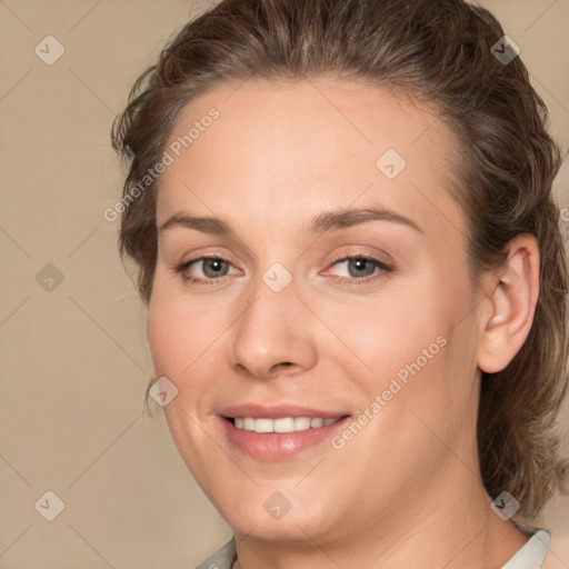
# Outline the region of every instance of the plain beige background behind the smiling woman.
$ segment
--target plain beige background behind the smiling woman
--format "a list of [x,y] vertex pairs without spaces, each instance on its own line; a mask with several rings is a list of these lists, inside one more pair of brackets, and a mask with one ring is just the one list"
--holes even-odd
[[[118,223],[102,216],[122,181],[112,119],[190,9],[207,3],[0,1],[0,569],[190,569],[231,535],[158,406],[154,418],[143,412],[146,313],[119,261]],[[521,47],[567,151],[569,0],[482,4]],[[64,48],[52,66],[34,53],[48,34]],[[568,173],[566,163],[562,207]],[[64,502],[53,521],[34,507],[47,491]],[[551,567],[569,567],[569,499],[543,523]]]

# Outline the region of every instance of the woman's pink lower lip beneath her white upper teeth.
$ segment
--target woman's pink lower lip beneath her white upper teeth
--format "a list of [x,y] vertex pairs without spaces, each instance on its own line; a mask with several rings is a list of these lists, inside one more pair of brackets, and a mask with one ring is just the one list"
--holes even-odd
[[229,441],[241,452],[256,459],[284,460],[329,440],[335,431],[345,427],[350,419],[343,417],[339,421],[323,427],[310,428],[295,432],[254,432],[238,429],[230,420],[219,417]]

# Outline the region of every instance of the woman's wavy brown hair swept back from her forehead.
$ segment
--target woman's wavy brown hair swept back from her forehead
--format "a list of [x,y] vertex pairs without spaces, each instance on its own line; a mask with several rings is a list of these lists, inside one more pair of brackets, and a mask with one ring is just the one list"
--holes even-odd
[[[551,194],[561,157],[522,61],[500,61],[491,50],[503,36],[490,12],[462,0],[224,0],[188,22],[140,76],[112,142],[130,162],[124,199],[160,161],[181,109],[220,83],[335,73],[436,104],[460,142],[456,198],[468,219],[475,277],[503,261],[516,234],[532,233],[539,243],[532,328],[503,371],[482,373],[478,419],[488,493],[508,490],[535,517],[561,485],[565,466],[551,429],[567,389],[568,269]],[[119,237],[147,303],[156,191],[153,182],[130,199]]]

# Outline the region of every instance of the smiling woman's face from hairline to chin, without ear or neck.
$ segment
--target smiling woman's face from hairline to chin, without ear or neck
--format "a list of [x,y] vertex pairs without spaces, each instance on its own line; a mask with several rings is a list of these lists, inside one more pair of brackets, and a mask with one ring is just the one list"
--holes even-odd
[[251,80],[170,136],[148,337],[237,533],[347,539],[470,476],[448,447],[476,453],[476,295],[436,119],[378,87]]

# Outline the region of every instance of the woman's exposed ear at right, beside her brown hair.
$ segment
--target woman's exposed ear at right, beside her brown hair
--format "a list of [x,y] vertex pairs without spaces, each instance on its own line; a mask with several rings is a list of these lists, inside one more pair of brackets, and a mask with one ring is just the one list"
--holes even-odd
[[526,341],[539,296],[539,248],[520,233],[508,243],[508,258],[483,276],[478,367],[487,373],[505,369]]

